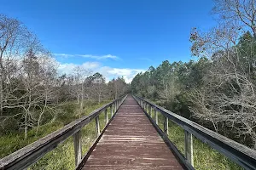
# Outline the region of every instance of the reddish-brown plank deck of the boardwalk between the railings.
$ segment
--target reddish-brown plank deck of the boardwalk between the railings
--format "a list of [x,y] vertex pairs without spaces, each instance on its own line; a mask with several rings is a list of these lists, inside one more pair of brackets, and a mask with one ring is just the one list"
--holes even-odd
[[183,169],[148,117],[128,96],[83,169]]

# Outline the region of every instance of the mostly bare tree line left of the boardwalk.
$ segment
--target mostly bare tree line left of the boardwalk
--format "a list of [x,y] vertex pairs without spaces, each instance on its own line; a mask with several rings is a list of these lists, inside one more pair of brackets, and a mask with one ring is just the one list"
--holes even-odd
[[128,90],[124,78],[106,82],[80,66],[60,75],[52,54],[20,20],[0,14],[0,132],[24,132],[55,120],[61,105],[117,99]]

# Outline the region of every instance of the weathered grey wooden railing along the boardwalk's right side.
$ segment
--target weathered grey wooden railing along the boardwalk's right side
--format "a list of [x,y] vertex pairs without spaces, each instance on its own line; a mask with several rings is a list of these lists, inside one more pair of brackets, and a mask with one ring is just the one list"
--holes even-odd
[[[235,161],[241,167],[245,169],[256,169],[256,150],[251,150],[247,146],[239,144],[234,140],[228,139],[221,134],[215,133],[212,130],[202,127],[201,125],[189,121],[183,116],[178,116],[172,111],[168,111],[159,105],[155,105],[149,102],[146,99],[142,99],[137,96],[133,96],[139,105],[143,108],[143,111],[147,114],[149,120],[154,123],[154,127],[157,128],[158,132],[166,143],[174,150],[181,161],[188,169],[194,168],[193,161],[193,140],[192,136],[194,135],[197,139],[200,139],[202,142],[209,144],[213,149],[218,150],[218,152],[224,154],[230,158],[230,160]],[[154,118],[151,118],[151,115],[154,111]],[[158,112],[164,116],[164,132],[158,126]],[[182,127],[184,130],[184,145],[185,145],[185,155],[183,156],[177,147],[172,144],[168,138],[168,120],[175,122],[179,127]]]

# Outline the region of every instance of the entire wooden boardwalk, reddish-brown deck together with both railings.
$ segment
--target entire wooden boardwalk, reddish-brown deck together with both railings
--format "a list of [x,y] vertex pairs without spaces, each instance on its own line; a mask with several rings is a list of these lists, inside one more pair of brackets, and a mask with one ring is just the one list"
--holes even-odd
[[[201,142],[208,144],[212,149],[218,150],[219,153],[236,162],[244,169],[256,169],[255,150],[249,149],[245,145],[228,139],[182,116],[178,116],[172,111],[167,111],[165,108],[148,100],[133,96],[136,101],[131,95],[126,97],[127,95],[114,99],[96,109],[96,111],[92,111],[90,115],[83,116],[44,138],[15,151],[15,153],[3,157],[0,159],[0,169],[26,169],[70,137],[73,137],[74,160],[78,170],[195,170],[193,166],[193,138],[200,139]],[[142,108],[137,104],[147,108],[147,111],[149,109],[150,114],[154,112],[154,114],[158,113],[164,117],[165,132],[160,130],[156,123],[158,122],[158,116],[155,115],[155,121],[153,121],[148,114],[143,113]],[[117,109],[118,111],[116,112]],[[105,121],[107,123],[108,114],[112,115],[113,112],[116,112],[116,114],[111,118],[112,121],[100,133],[99,116],[105,113]],[[166,133],[168,133],[168,121],[175,122],[183,128],[185,137],[184,156],[166,136]],[[88,154],[82,157],[81,129],[90,122],[95,122],[98,138]],[[170,133],[172,133],[172,129],[170,129]],[[172,151],[170,148],[172,148]]]

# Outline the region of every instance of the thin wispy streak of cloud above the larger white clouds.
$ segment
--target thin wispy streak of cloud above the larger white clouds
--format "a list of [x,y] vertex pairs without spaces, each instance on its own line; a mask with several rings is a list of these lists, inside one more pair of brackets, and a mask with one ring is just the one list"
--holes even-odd
[[93,55],[93,54],[54,54],[55,56],[60,56],[64,58],[68,57],[84,57],[84,58],[90,58],[90,59],[119,59],[116,55]]

